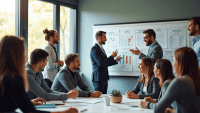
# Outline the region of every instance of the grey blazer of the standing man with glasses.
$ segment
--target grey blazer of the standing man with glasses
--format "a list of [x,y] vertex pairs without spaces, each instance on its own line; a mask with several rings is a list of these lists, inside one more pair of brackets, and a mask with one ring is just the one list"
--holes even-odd
[[153,65],[154,65],[156,63],[156,60],[162,59],[162,57],[163,57],[162,47],[160,46],[160,44],[157,41],[155,41],[155,43],[152,44],[151,49],[149,50],[147,55],[145,55],[143,53],[141,53],[139,55],[139,59],[141,59],[143,57],[151,58]]

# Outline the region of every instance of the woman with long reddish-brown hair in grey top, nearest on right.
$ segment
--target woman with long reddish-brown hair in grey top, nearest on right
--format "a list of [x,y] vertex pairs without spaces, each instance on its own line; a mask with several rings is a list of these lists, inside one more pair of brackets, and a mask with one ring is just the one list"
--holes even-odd
[[170,105],[176,113],[199,113],[200,76],[194,50],[188,47],[177,49],[173,67],[177,77],[169,84],[165,95],[153,104],[154,113],[164,113]]

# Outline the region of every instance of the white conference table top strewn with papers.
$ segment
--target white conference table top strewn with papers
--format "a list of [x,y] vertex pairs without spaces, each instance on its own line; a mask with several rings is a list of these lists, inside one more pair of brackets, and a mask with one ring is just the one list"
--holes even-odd
[[64,105],[56,105],[55,108],[37,108],[37,110],[63,111],[75,107],[79,113],[153,113],[152,109],[139,107],[139,102],[143,99],[128,99],[123,95],[121,103],[110,102],[110,106],[106,106],[104,105],[104,96],[110,96],[110,94],[102,94],[100,98],[68,99],[64,102]]

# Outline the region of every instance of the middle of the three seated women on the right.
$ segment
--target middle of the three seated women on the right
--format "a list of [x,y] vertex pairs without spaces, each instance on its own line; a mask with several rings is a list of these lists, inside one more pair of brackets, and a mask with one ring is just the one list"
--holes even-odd
[[153,100],[151,97],[145,97],[145,102],[141,101],[140,106],[142,108],[153,108],[153,103],[158,102],[161,97],[165,94],[167,87],[169,86],[172,79],[174,79],[174,74],[172,71],[172,64],[169,60],[159,59],[154,65],[154,75],[160,80],[159,85],[161,86],[160,95],[157,100]]

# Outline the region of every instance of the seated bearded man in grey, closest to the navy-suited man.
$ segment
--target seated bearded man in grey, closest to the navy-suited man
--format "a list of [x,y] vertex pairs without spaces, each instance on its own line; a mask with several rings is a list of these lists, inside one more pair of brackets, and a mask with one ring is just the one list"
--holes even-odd
[[65,57],[66,66],[58,72],[51,89],[59,92],[65,92],[76,88],[77,86],[82,90],[79,90],[79,97],[99,97],[100,91],[91,92],[86,86],[76,70],[80,70],[81,63],[78,58],[79,54],[69,54]]

